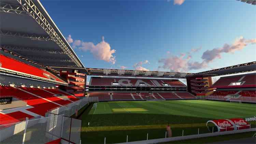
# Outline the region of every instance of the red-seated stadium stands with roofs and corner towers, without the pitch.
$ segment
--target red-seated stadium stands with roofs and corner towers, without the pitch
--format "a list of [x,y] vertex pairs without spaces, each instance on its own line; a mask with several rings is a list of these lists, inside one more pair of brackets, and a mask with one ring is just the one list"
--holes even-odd
[[[256,71],[256,61],[199,73],[85,68],[39,0],[1,0],[0,4],[1,141],[20,132],[13,127],[17,123],[25,121],[27,127],[28,119],[72,116],[92,101],[256,102],[255,73],[222,77],[214,84],[211,78]],[[86,85],[88,75],[92,77]],[[186,79],[187,86],[177,78]],[[61,137],[47,130],[48,140],[43,143]],[[79,143],[70,136],[63,140]]]

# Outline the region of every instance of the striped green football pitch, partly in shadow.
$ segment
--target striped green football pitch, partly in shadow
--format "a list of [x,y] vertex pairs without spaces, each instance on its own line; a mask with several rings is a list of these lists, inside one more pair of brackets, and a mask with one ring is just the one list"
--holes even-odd
[[[166,126],[172,136],[208,133],[213,119],[256,115],[255,104],[208,100],[111,101],[88,106],[80,116],[82,143],[120,143],[164,138]],[[255,121],[252,123],[255,127]]]

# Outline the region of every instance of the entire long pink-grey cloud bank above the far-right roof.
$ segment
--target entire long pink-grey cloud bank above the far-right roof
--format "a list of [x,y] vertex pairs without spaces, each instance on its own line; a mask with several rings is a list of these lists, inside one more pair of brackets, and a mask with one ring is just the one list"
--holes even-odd
[[191,52],[188,52],[187,57],[186,54],[181,53],[180,56],[168,55],[167,58],[161,58],[158,60],[159,63],[162,63],[162,66],[158,66],[158,69],[169,69],[170,71],[175,72],[186,72],[189,70],[198,70],[202,68],[207,68],[208,64],[212,62],[216,58],[221,58],[221,53],[234,53],[235,51],[242,50],[248,44],[255,44],[256,39],[246,40],[243,37],[240,37],[234,41],[233,44],[224,44],[223,47],[214,48],[211,50],[207,50],[202,54],[202,62],[191,61],[192,56],[190,55],[192,52],[198,52],[200,48],[191,49]]

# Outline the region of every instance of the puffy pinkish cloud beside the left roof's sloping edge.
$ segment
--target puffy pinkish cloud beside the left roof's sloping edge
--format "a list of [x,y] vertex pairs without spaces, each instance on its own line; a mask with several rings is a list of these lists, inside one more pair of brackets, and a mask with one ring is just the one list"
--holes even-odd
[[[71,38],[71,35],[67,38],[67,40],[72,43],[73,48],[77,48],[81,51],[89,51],[93,54],[93,56],[99,60],[104,60],[106,62],[110,62],[115,64],[116,59],[113,54],[116,52],[115,49],[111,49],[110,44],[104,41],[104,37],[102,36],[102,41],[98,44],[94,44],[92,42],[83,42],[81,40],[75,40]],[[71,41],[72,40],[72,41]]]

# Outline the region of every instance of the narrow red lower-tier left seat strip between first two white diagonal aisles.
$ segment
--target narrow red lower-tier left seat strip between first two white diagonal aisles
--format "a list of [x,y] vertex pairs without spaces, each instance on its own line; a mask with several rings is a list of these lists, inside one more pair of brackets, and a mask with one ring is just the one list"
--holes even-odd
[[69,100],[63,100],[63,99],[61,99],[61,98],[58,98],[58,97],[54,96],[52,93],[47,92],[47,91],[45,91],[45,90],[43,90],[43,89],[39,89],[39,88],[27,88],[27,87],[20,87],[20,88],[23,89],[23,90],[26,90],[26,91],[28,91],[28,92],[31,92],[31,93],[33,93],[33,94],[35,94],[35,95],[37,95],[37,96],[43,97],[43,98],[45,98],[45,99],[47,99],[47,100],[53,101],[53,102],[55,102],[55,103],[58,103],[58,104],[60,104],[60,105],[62,105],[62,106],[71,103],[71,101],[69,101]]

